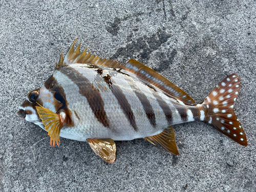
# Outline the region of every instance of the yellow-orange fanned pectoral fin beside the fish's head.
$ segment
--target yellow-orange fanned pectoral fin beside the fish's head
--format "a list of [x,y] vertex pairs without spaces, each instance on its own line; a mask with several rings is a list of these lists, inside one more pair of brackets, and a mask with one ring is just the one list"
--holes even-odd
[[59,134],[60,130],[63,126],[63,121],[61,121],[61,117],[59,114],[56,114],[43,106],[36,106],[37,113],[42,120],[42,124],[45,125],[46,131],[48,131],[48,135],[51,137],[50,145],[55,146],[55,142],[59,145]]

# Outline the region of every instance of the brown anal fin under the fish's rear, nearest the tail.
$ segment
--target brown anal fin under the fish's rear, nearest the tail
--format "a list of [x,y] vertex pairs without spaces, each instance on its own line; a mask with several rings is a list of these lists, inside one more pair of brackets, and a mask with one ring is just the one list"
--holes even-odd
[[145,140],[156,145],[160,144],[165,150],[174,155],[179,155],[178,147],[175,143],[175,133],[173,127],[166,128],[162,133],[151,137],[145,137]]

